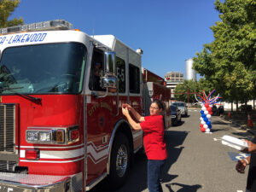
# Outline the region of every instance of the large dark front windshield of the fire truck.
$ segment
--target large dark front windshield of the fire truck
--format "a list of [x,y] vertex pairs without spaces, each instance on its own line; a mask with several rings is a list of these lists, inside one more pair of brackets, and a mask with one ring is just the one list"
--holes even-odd
[[82,90],[84,44],[39,44],[3,50],[0,94],[55,94]]

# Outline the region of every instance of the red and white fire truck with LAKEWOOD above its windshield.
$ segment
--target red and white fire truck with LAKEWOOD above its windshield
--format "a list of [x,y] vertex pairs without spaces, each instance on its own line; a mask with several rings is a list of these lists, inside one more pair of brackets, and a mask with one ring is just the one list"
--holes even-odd
[[124,183],[143,132],[131,130],[122,103],[147,114],[153,98],[166,108],[171,99],[141,65],[140,51],[66,20],[0,29],[0,191]]

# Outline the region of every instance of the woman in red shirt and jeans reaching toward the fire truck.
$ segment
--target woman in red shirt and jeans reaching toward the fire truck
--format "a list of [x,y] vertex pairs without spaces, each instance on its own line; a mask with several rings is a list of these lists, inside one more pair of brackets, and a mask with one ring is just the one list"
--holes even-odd
[[[150,105],[150,116],[146,117],[141,116],[128,104],[123,104],[122,107],[122,112],[131,127],[135,130],[143,130],[143,143],[148,157],[148,190],[162,192],[160,173],[167,158],[164,119],[161,115],[164,105],[159,100],[154,100]],[[131,118],[129,111],[140,123]]]

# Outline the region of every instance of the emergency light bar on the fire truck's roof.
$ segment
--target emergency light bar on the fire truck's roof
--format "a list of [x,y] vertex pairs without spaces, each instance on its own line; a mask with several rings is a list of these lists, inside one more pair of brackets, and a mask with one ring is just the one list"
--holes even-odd
[[45,30],[70,30],[73,25],[67,20],[48,20],[38,23],[26,24],[22,26],[10,26],[0,29],[0,34],[7,34],[12,32],[34,32]]

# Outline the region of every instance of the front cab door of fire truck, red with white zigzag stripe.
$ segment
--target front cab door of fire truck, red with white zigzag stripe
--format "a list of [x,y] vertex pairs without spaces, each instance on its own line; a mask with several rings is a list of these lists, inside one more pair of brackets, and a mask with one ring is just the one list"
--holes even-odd
[[100,79],[103,70],[104,53],[94,48],[89,89],[90,102],[87,101],[87,183],[101,177],[107,170],[108,141],[116,122],[117,96],[113,93],[106,95]]

